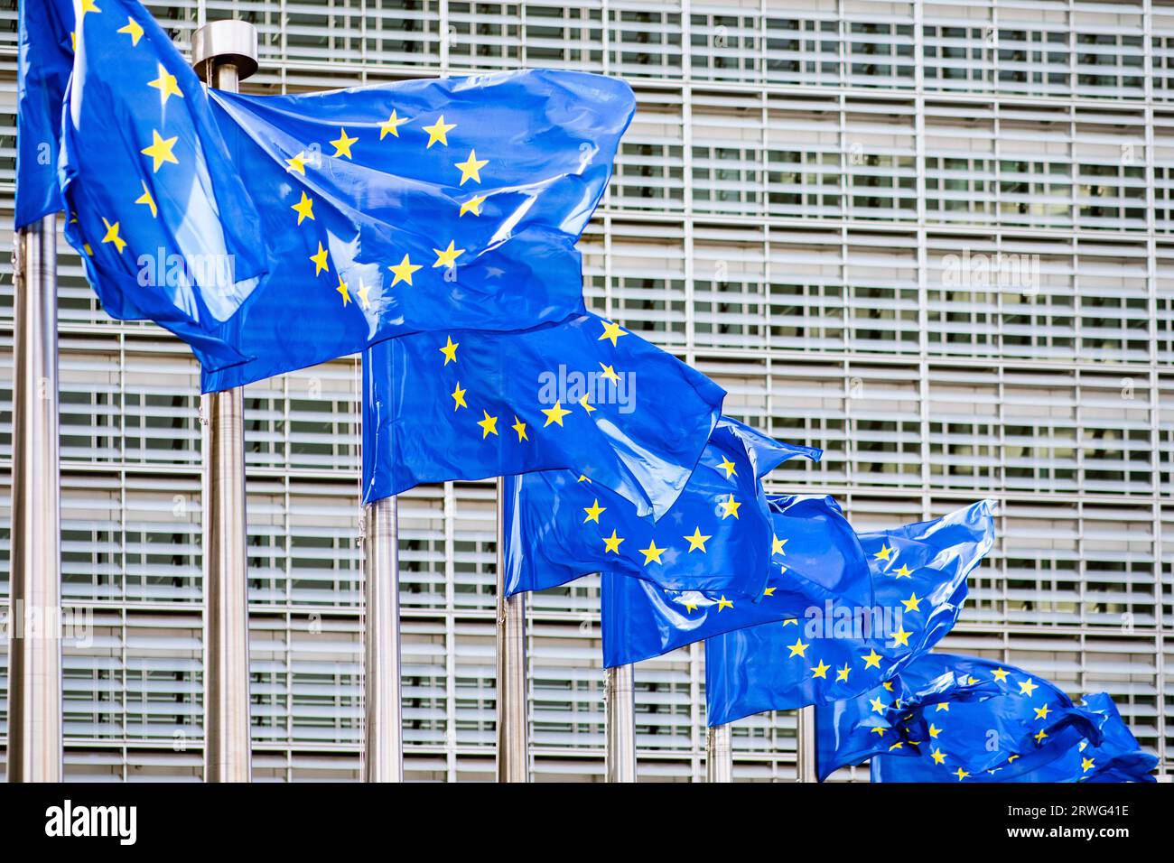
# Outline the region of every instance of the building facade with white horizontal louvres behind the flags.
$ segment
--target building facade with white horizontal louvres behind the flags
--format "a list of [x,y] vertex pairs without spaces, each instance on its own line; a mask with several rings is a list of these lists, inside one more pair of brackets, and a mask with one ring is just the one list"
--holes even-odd
[[[1174,2],[148,6],[183,49],[203,21],[254,22],[251,92],[522,66],[629,81],[639,112],[581,244],[589,304],[721,383],[729,413],[825,450],[772,491],[831,492],[863,530],[997,498],[996,548],[942,649],[1109,692],[1170,770]],[[14,0],[0,21],[11,225]],[[198,780],[197,368],[110,321],[59,248],[63,599],[89,620],[63,648],[66,776]],[[356,358],[245,393],[258,781],[359,775],[358,393]],[[493,778],[493,499],[492,483],[400,499],[412,780]],[[598,608],[591,578],[528,604],[535,781],[602,777]],[[635,669],[643,780],[704,775],[703,653]],[[735,778],[794,777],[792,713],[733,741]]]

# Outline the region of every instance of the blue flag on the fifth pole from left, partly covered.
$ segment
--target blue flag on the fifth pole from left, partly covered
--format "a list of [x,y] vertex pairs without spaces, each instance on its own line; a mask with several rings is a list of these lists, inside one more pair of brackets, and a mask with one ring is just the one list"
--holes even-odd
[[765,546],[747,550],[757,554],[760,562],[731,561],[748,572],[765,565],[767,584],[756,601],[726,592],[666,591],[605,572],[600,587],[603,665],[639,662],[768,621],[797,621],[807,609],[823,607],[829,600],[871,605],[869,565],[839,505],[824,495],[776,497],[769,501]]

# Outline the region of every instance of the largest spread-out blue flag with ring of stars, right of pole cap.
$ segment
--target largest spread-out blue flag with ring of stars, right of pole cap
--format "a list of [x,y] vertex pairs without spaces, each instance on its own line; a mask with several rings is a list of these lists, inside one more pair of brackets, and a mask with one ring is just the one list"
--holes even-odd
[[582,310],[575,242],[635,109],[622,81],[535,69],[211,96],[272,276],[222,333],[254,359],[207,368],[205,390]]

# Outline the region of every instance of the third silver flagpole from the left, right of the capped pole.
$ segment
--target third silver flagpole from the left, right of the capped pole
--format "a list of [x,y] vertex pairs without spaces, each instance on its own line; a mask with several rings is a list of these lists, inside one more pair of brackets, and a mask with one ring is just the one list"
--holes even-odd
[[399,521],[394,498],[366,507],[364,537],[366,629],[363,699],[366,722],[363,778],[404,781],[404,728],[399,694]]

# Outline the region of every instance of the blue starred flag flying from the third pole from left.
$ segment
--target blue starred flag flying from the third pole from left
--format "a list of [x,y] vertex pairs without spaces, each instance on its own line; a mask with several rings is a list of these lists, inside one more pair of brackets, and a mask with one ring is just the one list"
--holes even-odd
[[573,470],[666,513],[726,392],[596,315],[521,332],[448,330],[363,360],[363,499],[419,483]]

